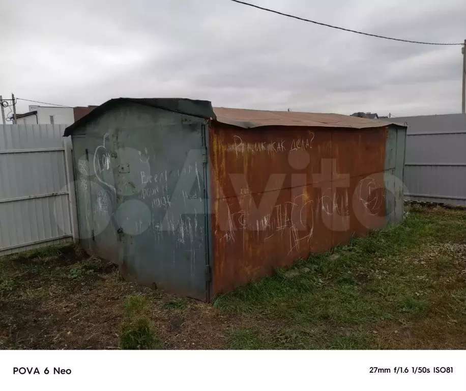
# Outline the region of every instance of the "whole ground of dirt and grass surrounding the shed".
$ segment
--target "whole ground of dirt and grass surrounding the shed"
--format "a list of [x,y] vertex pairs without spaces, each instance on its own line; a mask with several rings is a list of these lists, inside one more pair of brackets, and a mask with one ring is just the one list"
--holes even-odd
[[165,349],[465,349],[466,210],[411,207],[214,304],[124,281],[73,245],[4,257],[0,348],[118,349],[131,295]]

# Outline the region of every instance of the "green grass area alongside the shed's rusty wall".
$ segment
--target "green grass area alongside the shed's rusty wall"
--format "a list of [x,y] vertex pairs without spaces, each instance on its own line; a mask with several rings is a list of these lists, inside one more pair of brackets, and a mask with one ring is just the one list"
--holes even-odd
[[[466,301],[459,299],[466,297],[466,246],[461,243],[466,243],[464,211],[431,213],[414,206],[403,224],[311,255],[271,277],[217,297],[214,306],[255,324],[254,339],[268,348],[398,347],[398,338],[379,336],[376,329],[384,325],[416,331],[416,322],[429,318],[437,322],[451,317],[454,325],[466,324]],[[445,290],[453,276],[453,290]],[[435,306],[433,301],[447,292],[449,304]],[[449,337],[457,338],[462,329],[452,327]],[[341,335],[341,330],[350,334]],[[394,337],[399,337],[397,333]],[[461,346],[465,342],[461,338]],[[242,345],[248,346],[241,333],[229,339],[231,348]]]

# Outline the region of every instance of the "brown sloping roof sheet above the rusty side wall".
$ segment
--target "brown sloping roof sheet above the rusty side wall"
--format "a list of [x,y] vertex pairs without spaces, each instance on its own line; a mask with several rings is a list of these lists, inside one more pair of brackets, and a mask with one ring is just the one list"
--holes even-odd
[[390,121],[370,120],[342,114],[300,113],[296,111],[248,110],[214,107],[216,120],[242,128],[259,126],[320,126],[332,128],[376,128],[388,125],[404,126]]

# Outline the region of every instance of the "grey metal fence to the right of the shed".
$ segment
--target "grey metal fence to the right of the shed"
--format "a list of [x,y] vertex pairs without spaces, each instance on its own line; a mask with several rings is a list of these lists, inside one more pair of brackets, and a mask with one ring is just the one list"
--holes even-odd
[[406,122],[406,199],[466,205],[466,116],[397,118]]

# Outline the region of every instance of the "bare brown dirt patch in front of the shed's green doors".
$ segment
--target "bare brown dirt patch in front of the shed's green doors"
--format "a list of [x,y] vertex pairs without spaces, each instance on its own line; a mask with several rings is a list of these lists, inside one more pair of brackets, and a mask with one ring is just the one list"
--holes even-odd
[[0,300],[1,348],[118,348],[130,295],[148,298],[165,348],[205,348],[206,340],[210,348],[223,346],[228,317],[212,305],[124,281],[115,265],[89,258],[79,247],[55,247],[52,253],[10,261],[18,281]]

